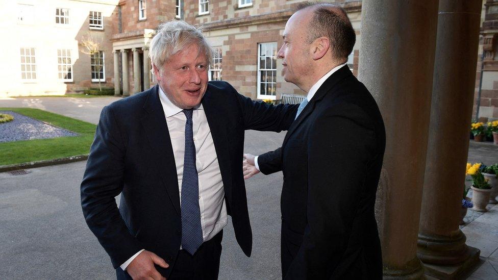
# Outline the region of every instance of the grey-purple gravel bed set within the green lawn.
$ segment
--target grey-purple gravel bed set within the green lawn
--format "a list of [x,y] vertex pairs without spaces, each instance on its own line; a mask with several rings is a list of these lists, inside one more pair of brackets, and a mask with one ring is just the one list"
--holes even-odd
[[79,136],[77,133],[14,112],[0,113],[14,116],[13,121],[0,123],[0,142]]

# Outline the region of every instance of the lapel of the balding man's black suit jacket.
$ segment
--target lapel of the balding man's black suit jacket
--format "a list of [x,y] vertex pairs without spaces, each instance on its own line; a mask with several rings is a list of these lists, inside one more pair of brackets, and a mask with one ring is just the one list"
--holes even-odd
[[287,131],[284,142],[282,143],[282,147],[285,146],[289,137],[295,132],[295,130],[301,125],[301,123],[303,123],[304,120],[306,120],[306,118],[314,111],[316,104],[319,103],[320,100],[323,99],[323,97],[325,97],[325,95],[329,93],[329,91],[331,91],[338,82],[342,81],[344,78],[352,74],[353,73],[351,73],[351,70],[348,68],[348,66],[344,65],[336,72],[334,72],[327,80],[325,80],[325,82],[323,82],[320,88],[316,91],[313,98],[311,98],[311,100],[309,101],[308,105],[306,105],[301,114],[290,125],[289,131]]

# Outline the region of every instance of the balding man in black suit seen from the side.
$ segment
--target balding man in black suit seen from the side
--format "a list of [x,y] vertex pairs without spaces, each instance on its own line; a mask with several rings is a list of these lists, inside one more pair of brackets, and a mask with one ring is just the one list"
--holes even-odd
[[282,276],[380,279],[374,204],[385,130],[374,98],[345,64],[355,31],[343,9],[318,4],[294,13],[283,37],[285,81],[308,95],[282,147],[246,154],[244,171],[246,179],[283,171]]

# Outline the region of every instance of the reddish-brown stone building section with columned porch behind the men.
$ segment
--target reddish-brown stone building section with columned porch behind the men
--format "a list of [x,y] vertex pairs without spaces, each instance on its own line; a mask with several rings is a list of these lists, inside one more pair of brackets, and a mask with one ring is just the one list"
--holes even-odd
[[[162,0],[120,1],[118,30],[112,35],[116,95],[128,96],[155,84],[147,58],[148,44],[158,24],[183,19],[206,28],[216,50],[210,80],[225,80],[241,94],[255,99],[280,99],[283,93],[303,94],[283,80],[278,63],[285,22],[303,0]],[[335,1],[330,1],[335,2]],[[348,64],[358,69],[361,1],[340,3],[357,32],[357,44]]]

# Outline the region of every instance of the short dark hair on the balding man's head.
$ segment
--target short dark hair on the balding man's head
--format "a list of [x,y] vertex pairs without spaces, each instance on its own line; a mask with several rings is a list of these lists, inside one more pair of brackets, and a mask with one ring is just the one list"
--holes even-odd
[[308,43],[319,37],[330,40],[332,56],[335,59],[347,60],[356,42],[356,33],[346,11],[332,4],[316,4],[305,2],[297,6],[297,10],[314,7],[308,29]]

